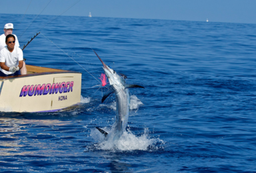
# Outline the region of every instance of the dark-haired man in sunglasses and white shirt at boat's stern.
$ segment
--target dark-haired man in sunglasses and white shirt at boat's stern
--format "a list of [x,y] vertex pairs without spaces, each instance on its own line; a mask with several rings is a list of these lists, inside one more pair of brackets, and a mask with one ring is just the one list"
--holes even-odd
[[23,52],[15,46],[15,36],[7,35],[5,44],[7,46],[0,51],[0,77],[21,75]]

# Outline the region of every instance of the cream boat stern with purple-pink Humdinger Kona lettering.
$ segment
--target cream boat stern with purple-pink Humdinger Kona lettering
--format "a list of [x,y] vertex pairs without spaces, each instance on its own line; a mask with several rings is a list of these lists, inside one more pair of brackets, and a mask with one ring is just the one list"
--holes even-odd
[[27,75],[0,77],[0,111],[57,111],[81,101],[81,73],[26,67]]

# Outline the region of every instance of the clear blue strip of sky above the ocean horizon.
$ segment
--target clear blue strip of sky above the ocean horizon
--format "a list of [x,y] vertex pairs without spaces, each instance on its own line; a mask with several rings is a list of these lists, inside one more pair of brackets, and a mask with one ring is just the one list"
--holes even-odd
[[[256,23],[255,0],[11,0],[0,13]],[[31,2],[31,3],[30,3]],[[29,5],[30,3],[30,5]]]

